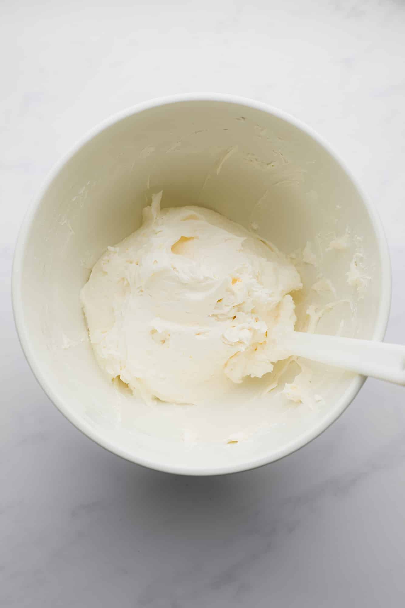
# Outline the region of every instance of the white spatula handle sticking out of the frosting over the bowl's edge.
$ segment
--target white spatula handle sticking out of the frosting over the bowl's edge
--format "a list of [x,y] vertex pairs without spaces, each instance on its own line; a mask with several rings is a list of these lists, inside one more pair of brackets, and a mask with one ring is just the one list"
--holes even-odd
[[285,339],[291,354],[405,385],[405,346],[339,336],[291,331]]

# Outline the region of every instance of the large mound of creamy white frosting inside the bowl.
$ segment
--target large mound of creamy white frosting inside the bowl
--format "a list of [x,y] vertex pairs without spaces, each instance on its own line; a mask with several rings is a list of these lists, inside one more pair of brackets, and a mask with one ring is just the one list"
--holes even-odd
[[301,278],[242,226],[202,207],[160,210],[161,196],[98,260],[81,302],[111,379],[145,401],[197,403],[287,358]]

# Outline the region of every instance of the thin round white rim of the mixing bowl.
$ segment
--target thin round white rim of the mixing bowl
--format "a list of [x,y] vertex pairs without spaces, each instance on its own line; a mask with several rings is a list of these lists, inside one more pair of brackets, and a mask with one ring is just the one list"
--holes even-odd
[[350,382],[349,387],[345,391],[345,393],[341,396],[336,404],[333,413],[330,412],[328,416],[321,421],[321,423],[315,424],[313,428],[308,430],[307,432],[298,435],[298,437],[294,438],[293,441],[290,441],[288,444],[283,446],[281,449],[277,451],[271,451],[271,454],[260,456],[260,457],[252,457],[248,458],[243,463],[237,464],[227,464],[221,466],[173,466],[166,465],[165,461],[162,457],[158,458],[145,458],[138,457],[135,454],[128,452],[125,449],[122,449],[120,446],[117,446],[114,441],[106,440],[106,438],[100,437],[97,432],[95,432],[94,428],[90,426],[89,423],[86,423],[79,416],[76,416],[73,413],[69,406],[65,403],[63,396],[58,395],[52,387],[48,384],[46,373],[41,370],[41,366],[39,365],[37,358],[35,356],[35,351],[33,350],[29,332],[24,322],[24,310],[22,305],[22,265],[24,262],[24,254],[26,248],[27,237],[30,232],[30,227],[33,222],[33,218],[35,218],[36,212],[38,210],[39,205],[41,204],[41,200],[43,199],[44,194],[49,188],[49,185],[52,183],[53,179],[56,178],[57,174],[61,171],[64,165],[91,139],[93,139],[97,134],[104,131],[106,128],[114,125],[121,120],[132,116],[134,114],[138,114],[148,109],[155,108],[157,106],[163,105],[171,105],[174,103],[183,103],[183,102],[222,102],[222,103],[230,103],[235,105],[246,106],[251,109],[257,109],[259,111],[267,112],[268,114],[272,114],[279,119],[285,120],[293,126],[296,126],[299,130],[303,131],[305,134],[310,136],[313,140],[315,140],[321,147],[323,147],[330,156],[340,165],[342,170],[347,174],[350,181],[356,188],[364,202],[364,206],[369,214],[370,221],[373,226],[373,230],[375,232],[377,241],[378,241],[378,253],[379,260],[381,263],[381,281],[382,281],[382,294],[381,294],[381,302],[379,304],[379,311],[377,320],[375,323],[375,328],[373,332],[372,340],[383,341],[384,335],[386,333],[387,323],[389,319],[390,313],[390,305],[391,305],[391,292],[392,292],[392,278],[391,278],[391,264],[390,264],[390,255],[389,255],[389,247],[386,240],[386,235],[384,233],[383,225],[381,223],[381,219],[379,218],[378,211],[374,206],[373,202],[370,200],[369,196],[366,192],[364,192],[364,188],[358,183],[356,178],[353,176],[352,171],[347,167],[344,161],[342,161],[341,157],[336,154],[335,150],[330,146],[330,144],[323,139],[323,137],[319,136],[315,130],[313,130],[310,126],[306,125],[299,119],[291,116],[287,112],[284,112],[281,109],[274,108],[271,105],[268,105],[264,102],[258,102],[256,100],[239,97],[237,95],[230,94],[218,94],[218,93],[188,93],[188,94],[177,94],[177,95],[169,95],[164,97],[157,97],[151,100],[137,103],[134,106],[124,109],[123,111],[117,112],[111,117],[103,120],[98,125],[94,126],[91,130],[89,130],[80,140],[66,153],[63,157],[61,157],[60,161],[58,161],[52,170],[49,172],[47,177],[44,179],[43,184],[39,188],[39,192],[33,198],[32,202],[30,202],[29,207],[27,209],[26,215],[24,216],[24,220],[22,221],[21,228],[19,230],[18,239],[16,241],[15,253],[13,258],[13,268],[12,268],[12,305],[13,305],[13,315],[15,320],[15,326],[17,330],[17,334],[19,337],[19,342],[21,344],[22,350],[24,351],[24,355],[26,356],[27,362],[38,381],[41,388],[44,390],[47,396],[49,396],[50,400],[55,404],[56,407],[60,410],[61,413],[69,420],[77,429],[81,430],[84,435],[87,435],[90,439],[95,441],[98,445],[104,447],[109,452],[116,454],[126,460],[134,462],[138,465],[145,466],[150,469],[155,469],[157,471],[170,472],[174,474],[180,475],[223,475],[228,473],[235,473],[240,471],[248,471],[250,469],[255,469],[259,466],[264,466],[270,464],[271,462],[275,462],[280,460],[280,458],[284,458],[289,454],[293,454],[301,447],[304,447],[310,441],[314,440],[316,437],[321,435],[324,430],[326,430],[335,420],[338,420],[339,416],[349,407],[350,403],[353,401],[362,385],[366,381],[365,376],[356,375],[352,382]]

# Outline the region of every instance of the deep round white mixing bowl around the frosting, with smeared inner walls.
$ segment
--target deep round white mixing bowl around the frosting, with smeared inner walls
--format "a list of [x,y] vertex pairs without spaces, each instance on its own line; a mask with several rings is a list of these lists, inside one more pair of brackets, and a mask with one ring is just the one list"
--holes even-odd
[[[202,204],[245,226],[254,221],[287,254],[318,239],[321,271],[343,298],[354,297],[345,282],[353,252],[322,253],[322,234],[350,226],[372,280],[355,301],[355,317],[348,306],[338,317],[351,335],[383,339],[391,289],[386,240],[374,207],[336,154],[307,126],[262,103],[182,95],[98,126],[56,166],[30,207],[16,246],[13,308],[33,373],[84,434],[150,468],[224,474],[294,452],[338,418],[364,378],[321,369],[324,406],[237,446],[165,437],[158,416],[156,434],[148,435],[134,423],[134,409],[117,406],[89,345],[79,292],[101,253],[139,226],[141,209],[159,190],[163,206]],[[310,271],[307,265],[302,272]],[[334,333],[333,323],[321,330]]]

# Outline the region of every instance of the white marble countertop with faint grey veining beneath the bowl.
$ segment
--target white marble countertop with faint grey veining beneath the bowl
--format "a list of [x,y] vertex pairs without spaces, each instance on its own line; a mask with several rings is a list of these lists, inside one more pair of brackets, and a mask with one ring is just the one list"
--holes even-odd
[[404,389],[367,381],[274,465],[177,477],[81,435],[36,384],[13,326],[16,235],[53,163],[126,106],[217,91],[294,114],[347,161],[383,220],[387,340],[405,343],[405,5],[250,4],[2,2],[2,607],[403,604]]

